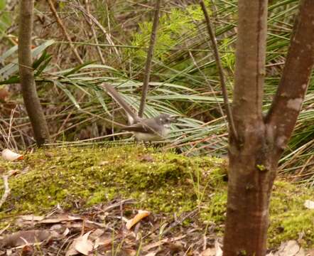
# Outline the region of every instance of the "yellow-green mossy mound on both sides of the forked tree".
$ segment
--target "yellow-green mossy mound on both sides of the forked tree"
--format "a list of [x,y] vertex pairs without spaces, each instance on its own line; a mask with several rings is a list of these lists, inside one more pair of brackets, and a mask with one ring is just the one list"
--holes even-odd
[[[46,213],[57,204],[77,211],[77,206],[86,208],[114,198],[134,198],[136,208],[155,213],[180,214],[198,207],[200,219],[216,227],[225,218],[227,183],[222,178],[223,161],[217,158],[185,157],[141,146],[64,146],[37,150],[18,163],[0,160],[0,165],[3,171],[18,170],[9,179],[11,194],[0,212],[0,218],[8,221],[21,213]],[[301,233],[303,245],[313,246],[314,210],[303,206],[311,198],[313,189],[283,181],[275,184],[271,247],[298,239]]]

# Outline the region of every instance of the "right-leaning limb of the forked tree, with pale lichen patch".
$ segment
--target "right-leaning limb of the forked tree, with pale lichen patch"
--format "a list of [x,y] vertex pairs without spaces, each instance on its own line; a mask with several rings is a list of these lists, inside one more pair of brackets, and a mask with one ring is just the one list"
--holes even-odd
[[286,65],[265,122],[277,149],[284,149],[301,112],[314,65],[314,1],[302,0]]

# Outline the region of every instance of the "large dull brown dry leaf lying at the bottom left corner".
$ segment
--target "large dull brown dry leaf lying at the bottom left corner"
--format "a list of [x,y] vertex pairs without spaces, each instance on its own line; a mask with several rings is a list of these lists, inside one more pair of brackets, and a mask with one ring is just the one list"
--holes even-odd
[[46,230],[28,230],[19,231],[12,235],[7,235],[2,241],[4,247],[17,247],[25,245],[26,242],[32,244],[34,242],[42,242],[50,237],[50,232]]

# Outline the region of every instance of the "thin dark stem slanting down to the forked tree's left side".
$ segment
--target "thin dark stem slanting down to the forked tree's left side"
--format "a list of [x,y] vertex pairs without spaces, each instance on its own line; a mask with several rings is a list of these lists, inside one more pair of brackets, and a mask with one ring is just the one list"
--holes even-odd
[[205,6],[203,0],[200,0],[200,7],[202,8],[202,12],[204,13],[204,16],[205,16],[207,30],[208,30],[208,33],[210,34],[210,40],[212,41],[212,48],[214,50],[215,60],[217,63],[217,68],[219,70],[219,74],[220,74],[220,83],[222,85],[222,96],[224,97],[224,107],[226,108],[227,120],[229,122],[231,132],[234,135],[234,138],[237,139],[238,134],[237,134],[237,130],[236,130],[235,125],[234,125],[231,107],[229,105],[227,86],[226,86],[226,82],[224,80],[224,71],[222,69],[222,63],[220,61],[220,55],[219,55],[219,51],[218,51],[218,47],[217,47],[217,41],[215,38],[215,34],[212,31],[212,23],[210,21],[210,16],[208,15],[208,12],[207,12],[207,9],[206,9],[206,6]]

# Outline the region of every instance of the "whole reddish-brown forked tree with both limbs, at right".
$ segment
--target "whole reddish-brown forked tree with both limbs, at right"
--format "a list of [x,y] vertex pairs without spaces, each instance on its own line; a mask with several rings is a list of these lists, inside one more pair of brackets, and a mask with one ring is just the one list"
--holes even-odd
[[230,135],[224,256],[266,255],[269,199],[278,159],[291,137],[314,63],[314,1],[303,0],[271,110],[261,106],[266,52],[267,0],[239,0]]

